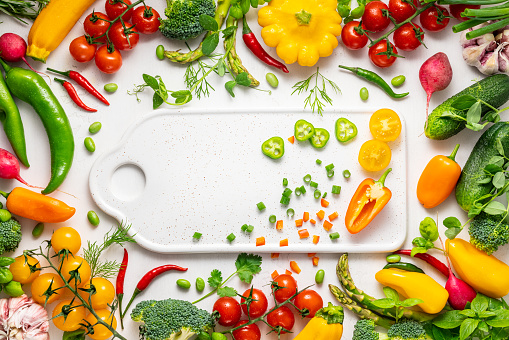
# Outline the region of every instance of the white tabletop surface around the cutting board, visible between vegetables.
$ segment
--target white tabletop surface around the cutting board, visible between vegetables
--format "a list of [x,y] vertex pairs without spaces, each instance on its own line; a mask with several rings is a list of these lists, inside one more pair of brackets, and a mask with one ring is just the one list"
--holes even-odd
[[[96,11],[104,11],[103,1],[97,1],[95,3]],[[147,1],[148,5],[154,6],[160,13],[164,10],[164,1]],[[142,83],[142,73],[148,73],[151,75],[161,75],[166,82],[168,88],[178,90],[184,88],[183,85],[183,74],[185,71],[184,66],[171,64],[168,61],[160,61],[155,57],[155,48],[159,44],[165,45],[167,49],[177,49],[186,47],[183,44],[176,44],[171,42],[159,33],[152,36],[141,36],[139,45],[133,50],[123,53],[124,65],[122,69],[114,75],[106,75],[99,72],[93,62],[81,65],[70,57],[68,53],[68,46],[72,39],[83,34],[82,23],[84,17],[90,13],[92,8],[85,13],[78,24],[73,28],[71,33],[62,42],[60,47],[54,51],[48,58],[47,65],[42,65],[39,62],[30,60],[32,65],[40,70],[44,71],[45,66],[52,67],[60,70],[76,70],[82,72],[92,84],[102,90],[102,86],[109,82],[115,82],[119,85],[119,90],[114,94],[106,94],[107,99],[111,102],[111,106],[106,107],[98,100],[93,98],[91,95],[86,93],[84,90],[78,89],[78,93],[83,98],[85,103],[89,106],[98,109],[96,113],[88,113],[77,108],[72,101],[69,99],[65,90],[60,84],[55,82],[51,83],[56,96],[66,109],[67,115],[71,121],[71,125],[74,131],[76,150],[74,157],[73,167],[64,182],[60,187],[62,192],[55,193],[53,196],[66,201],[69,205],[76,207],[76,214],[73,218],[65,223],[58,225],[46,225],[44,234],[39,239],[34,239],[31,235],[31,230],[35,224],[33,221],[23,220],[23,232],[24,237],[20,245],[19,251],[15,255],[21,253],[22,249],[34,248],[40,244],[43,239],[49,238],[54,229],[60,226],[72,226],[76,228],[82,235],[83,242],[85,240],[100,240],[105,232],[111,227],[116,225],[116,221],[99,211],[98,207],[92,201],[88,187],[88,174],[89,170],[96,158],[103,152],[109,150],[114,144],[116,144],[122,137],[124,131],[136,120],[144,115],[148,115],[152,112],[152,100],[151,93],[147,91],[146,94],[142,94],[140,98],[141,103],[137,103],[134,96],[128,96],[127,90],[133,88],[133,84]],[[256,24],[256,10],[252,10],[249,13],[249,22],[252,30],[255,34],[260,37],[260,28]],[[24,38],[28,35],[29,27],[23,24],[15,22],[13,19],[8,18],[4,15],[0,17],[3,21],[0,24],[0,33],[5,32],[16,32]],[[455,20],[452,20],[456,22]],[[239,31],[240,33],[240,31]],[[261,38],[260,38],[261,40]],[[461,148],[458,152],[456,160],[460,165],[463,165],[466,161],[470,150],[480,136],[480,133],[474,133],[472,131],[463,131],[459,135],[446,140],[446,141],[431,141],[428,140],[423,134],[423,126],[425,121],[425,93],[422,90],[418,80],[418,69],[420,65],[430,56],[437,52],[446,52],[451,61],[451,65],[454,72],[453,82],[443,92],[437,93],[433,96],[431,107],[435,107],[440,104],[443,100],[460,91],[461,89],[472,84],[473,80],[479,80],[482,75],[467,66],[461,57],[461,47],[458,44],[459,35],[454,35],[450,32],[449,28],[441,33],[426,33],[425,43],[428,49],[419,47],[418,50],[410,53],[402,52],[405,59],[398,60],[395,65],[389,69],[376,71],[382,75],[385,79],[390,81],[394,76],[404,74],[407,77],[407,81],[404,86],[398,91],[410,91],[410,95],[407,98],[394,100],[389,98],[385,93],[374,85],[368,84],[365,81],[358,79],[348,72],[339,71],[337,68],[338,64],[344,64],[349,66],[359,66],[367,69],[374,70],[375,67],[370,64],[367,57],[367,49],[352,52],[346,50],[343,46],[340,46],[334,51],[333,55],[321,59],[317,66],[320,67],[320,71],[323,72],[327,77],[330,77],[335,81],[342,90],[342,94],[333,94],[329,92],[334,100],[334,106],[341,109],[350,108],[362,108],[362,109],[378,109],[382,107],[394,108],[400,115],[406,120],[407,128],[407,148],[408,148],[408,229],[409,237],[406,241],[406,246],[411,246],[411,239],[418,234],[419,222],[426,216],[431,216],[441,221],[447,216],[455,215],[460,220],[466,220],[466,214],[463,213],[456,205],[454,197],[450,197],[446,202],[436,209],[425,210],[421,207],[415,196],[415,188],[419,175],[426,165],[426,163],[436,154],[448,155],[456,143],[461,143]],[[283,74],[278,70],[273,70],[265,64],[258,61],[251,55],[251,52],[247,50],[242,42],[241,37],[237,39],[237,48],[240,57],[242,58],[245,66],[251,71],[251,73],[261,81],[260,88],[269,89],[268,84],[264,80],[267,72],[274,72],[277,74],[280,84],[279,88],[272,91],[272,95],[268,95],[265,92],[259,92],[251,89],[236,88],[236,97],[231,98],[226,91],[223,89],[225,79],[212,75],[210,80],[216,88],[216,91],[212,93],[210,98],[201,100],[193,100],[187,105],[188,108],[193,109],[208,109],[214,108],[271,108],[271,107],[295,107],[301,108],[303,106],[304,96],[291,95],[292,85],[299,80],[307,78],[316,68],[305,68],[298,65],[290,65],[289,74]],[[220,50],[222,47],[220,47]],[[268,49],[268,51],[275,55],[275,50]],[[23,66],[19,64],[18,66]],[[366,86],[370,91],[369,100],[364,103],[359,99],[359,89]],[[104,92],[104,91],[103,91]],[[23,123],[25,126],[25,134],[27,139],[28,157],[31,163],[30,169],[22,169],[21,175],[29,183],[33,185],[45,186],[49,179],[49,148],[47,143],[46,133],[37,117],[35,112],[24,103],[17,101],[21,111]],[[320,117],[317,115],[316,120]],[[89,135],[88,126],[95,121],[100,121],[103,124],[102,130],[95,136],[93,136],[96,144],[96,152],[91,154],[83,146],[83,140]],[[275,122],[276,124],[277,122]],[[176,126],[176,129],[179,127]],[[207,128],[204,126],[204,129]],[[11,150],[10,145],[7,142],[4,134],[0,134],[0,147]],[[312,161],[312,160],[310,160]],[[161,174],[163,176],[164,174]],[[358,178],[357,183],[362,178]],[[356,186],[357,184],[351,185]],[[0,181],[0,189],[9,191],[13,187],[18,186],[18,183],[14,181],[2,180]],[[69,196],[63,192],[70,193]],[[225,201],[224,204],[231,204],[233,207],[235,202]],[[339,208],[341,209],[341,207]],[[343,210],[346,206],[343,207]],[[86,218],[87,211],[95,210],[99,213],[101,218],[101,224],[95,228],[91,226]],[[340,230],[342,233],[346,233],[346,230]],[[468,238],[466,231],[462,233],[464,238]],[[158,265],[173,263],[184,267],[189,267],[189,271],[185,274],[181,273],[167,273],[154,280],[150,287],[139,295],[137,301],[143,299],[165,299],[169,297],[183,298],[193,301],[198,294],[196,294],[194,288],[189,291],[180,290],[175,281],[178,278],[186,278],[191,282],[194,282],[198,276],[206,279],[208,273],[214,269],[220,269],[223,271],[224,276],[228,276],[234,271],[234,261],[236,258],[235,254],[182,254],[182,255],[161,255],[147,251],[136,245],[128,245],[129,250],[129,267],[127,269],[125,292],[126,299],[129,298],[130,293],[134,290],[136,283],[139,278],[149,269]],[[509,260],[507,247],[497,252],[497,257]],[[269,292],[266,286],[270,281],[270,273],[274,270],[284,272],[289,267],[289,261],[295,260],[301,266],[302,273],[296,275],[300,287],[304,287],[314,283],[314,275],[318,268],[324,269],[326,272],[325,282],[323,285],[315,287],[322,295],[324,302],[332,301],[335,302],[333,296],[327,289],[327,284],[339,285],[337,278],[335,277],[335,265],[341,255],[338,254],[320,254],[320,263],[318,268],[313,267],[307,254],[281,254],[279,259],[270,259],[270,254],[261,254],[263,256],[262,272],[255,276],[253,284],[263,289],[266,293]],[[439,254],[437,254],[439,255]],[[105,253],[108,259],[121,260],[122,250],[120,248],[112,247]],[[411,261],[411,260],[409,260]],[[385,254],[351,254],[350,264],[351,272],[355,282],[358,283],[359,287],[371,293],[377,297],[382,297],[381,287],[375,281],[374,274],[382,268],[385,263]],[[445,281],[437,271],[428,267],[425,263],[417,262],[417,265],[421,266],[429,275],[433,276],[440,283],[444,284]],[[238,291],[243,292],[248,288],[247,285],[241,284],[241,282],[234,278],[229,282],[229,285],[235,287]],[[27,287],[28,288],[28,287]],[[26,289],[28,292],[29,290]],[[215,298],[211,297],[204,302],[200,303],[199,307],[210,310]],[[51,308],[50,308],[51,310]],[[353,329],[353,324],[357,320],[357,317],[353,316],[350,312],[346,311],[345,317],[345,332],[344,339],[350,339]],[[138,338],[138,325],[130,322],[127,319],[126,329],[122,334],[128,339]],[[299,330],[304,325],[303,322],[297,321],[294,330]],[[262,328],[262,334],[266,333],[267,329]],[[51,328],[51,336],[53,338],[59,338],[61,332],[56,328]],[[274,335],[263,336],[264,339],[274,339]],[[283,339],[291,339],[292,335],[284,335]]]

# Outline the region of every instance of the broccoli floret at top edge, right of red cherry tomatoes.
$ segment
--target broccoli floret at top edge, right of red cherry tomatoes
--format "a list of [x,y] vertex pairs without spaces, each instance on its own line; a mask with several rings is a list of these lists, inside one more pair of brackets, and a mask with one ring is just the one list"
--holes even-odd
[[168,19],[160,19],[159,30],[169,39],[196,38],[205,32],[200,25],[200,15],[213,17],[215,12],[214,0],[167,0],[164,13]]

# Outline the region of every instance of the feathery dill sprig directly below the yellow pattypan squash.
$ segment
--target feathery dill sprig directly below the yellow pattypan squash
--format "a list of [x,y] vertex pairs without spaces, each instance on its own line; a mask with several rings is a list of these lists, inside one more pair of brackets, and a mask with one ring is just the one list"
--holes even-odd
[[[313,78],[314,86],[311,88],[311,90],[309,90],[309,86],[312,84]],[[309,91],[309,95],[304,100],[304,108],[308,107],[309,105],[313,112],[316,111],[322,115],[326,103],[332,105],[332,99],[327,93],[327,85],[330,86],[335,93],[341,93],[339,86],[321,74],[320,68],[317,67],[316,72],[313,73],[309,78],[301,80],[292,86],[292,89],[294,89],[292,95],[295,92],[297,92],[297,94],[301,94],[302,92]]]

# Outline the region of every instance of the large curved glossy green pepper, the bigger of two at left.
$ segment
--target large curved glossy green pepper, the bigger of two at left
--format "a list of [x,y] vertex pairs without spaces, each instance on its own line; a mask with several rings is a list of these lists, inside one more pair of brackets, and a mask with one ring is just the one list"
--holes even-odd
[[48,134],[51,152],[51,179],[43,194],[55,191],[71,169],[74,137],[64,109],[44,79],[36,72],[10,67],[0,59],[5,70],[5,82],[12,94],[30,104],[41,118]]

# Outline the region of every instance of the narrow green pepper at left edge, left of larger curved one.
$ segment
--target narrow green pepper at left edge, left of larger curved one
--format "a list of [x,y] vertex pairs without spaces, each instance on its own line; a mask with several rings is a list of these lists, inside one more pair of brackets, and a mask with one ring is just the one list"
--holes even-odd
[[5,135],[11,143],[12,149],[19,161],[29,167],[27,147],[25,143],[25,130],[21,122],[18,107],[11,96],[4,77],[0,75],[0,122],[4,127]]

